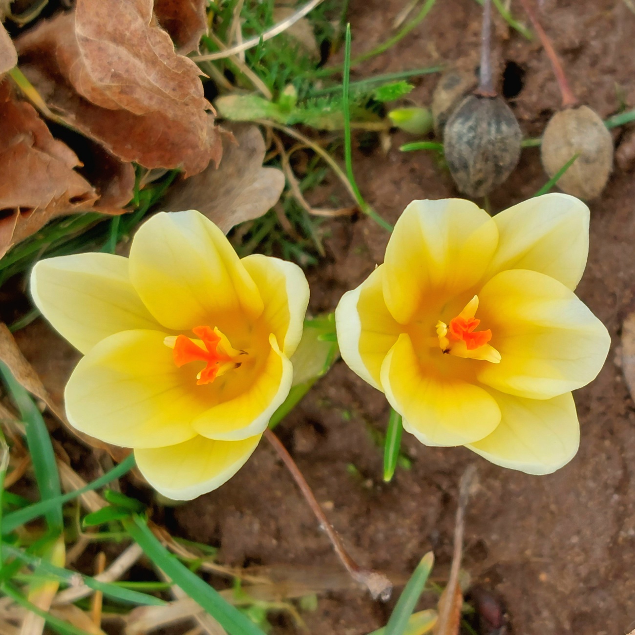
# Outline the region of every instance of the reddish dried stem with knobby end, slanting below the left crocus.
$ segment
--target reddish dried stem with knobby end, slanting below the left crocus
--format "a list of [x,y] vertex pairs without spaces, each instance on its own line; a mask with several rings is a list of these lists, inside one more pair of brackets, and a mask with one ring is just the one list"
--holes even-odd
[[333,549],[340,559],[340,562],[345,566],[351,577],[356,580],[356,582],[361,582],[366,585],[373,598],[388,599],[392,591],[392,582],[385,577],[383,573],[379,573],[371,569],[364,569],[351,558],[349,553],[346,551],[344,544],[342,544],[342,540],[340,540],[340,537],[337,535],[337,531],[333,529],[333,526],[329,523],[328,518],[326,518],[326,514],[324,514],[323,509],[320,507],[318,500],[309,487],[309,484],[304,478],[302,472],[300,472],[300,469],[295,464],[295,461],[291,458],[291,455],[288,453],[286,448],[282,445],[280,439],[278,439],[277,436],[269,429],[265,430],[265,437],[267,438],[267,441],[271,443],[274,450],[276,450],[277,455],[282,459],[284,465],[291,473],[291,476],[293,476],[293,480],[298,488],[300,488],[302,495],[318,519],[321,528],[326,531],[326,535],[331,541],[331,545],[333,545]]

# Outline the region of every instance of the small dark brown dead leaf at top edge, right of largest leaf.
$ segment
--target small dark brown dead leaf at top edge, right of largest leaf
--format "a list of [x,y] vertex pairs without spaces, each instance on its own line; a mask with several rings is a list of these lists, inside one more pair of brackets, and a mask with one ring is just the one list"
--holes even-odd
[[207,32],[206,0],[154,0],[154,15],[170,34],[179,53],[196,51]]

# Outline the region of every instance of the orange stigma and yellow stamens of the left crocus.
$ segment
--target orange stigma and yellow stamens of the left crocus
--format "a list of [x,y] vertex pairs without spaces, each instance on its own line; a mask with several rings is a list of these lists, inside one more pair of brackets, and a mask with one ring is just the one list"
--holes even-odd
[[172,349],[174,363],[180,368],[193,361],[204,361],[205,367],[196,375],[197,384],[210,384],[228,370],[238,368],[242,362],[237,361],[244,351],[236,351],[229,340],[218,328],[196,326],[192,329],[200,339],[192,339],[185,335],[170,335],[163,342]]

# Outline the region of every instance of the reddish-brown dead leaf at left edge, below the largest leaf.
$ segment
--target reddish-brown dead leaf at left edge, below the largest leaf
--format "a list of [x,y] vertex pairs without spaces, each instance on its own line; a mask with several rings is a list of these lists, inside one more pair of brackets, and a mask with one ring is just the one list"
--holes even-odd
[[0,84],[0,165],[0,256],[51,218],[97,201],[97,191],[74,169],[81,165],[76,154],[15,98],[8,80]]

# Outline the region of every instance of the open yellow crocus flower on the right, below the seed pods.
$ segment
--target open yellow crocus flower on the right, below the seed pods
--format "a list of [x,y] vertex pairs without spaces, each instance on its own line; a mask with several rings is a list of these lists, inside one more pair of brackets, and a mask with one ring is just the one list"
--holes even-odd
[[573,293],[589,209],[546,194],[495,217],[462,199],[413,201],[379,265],[335,312],[344,361],[425,445],[465,445],[548,474],[578,449],[571,391],[610,345]]

